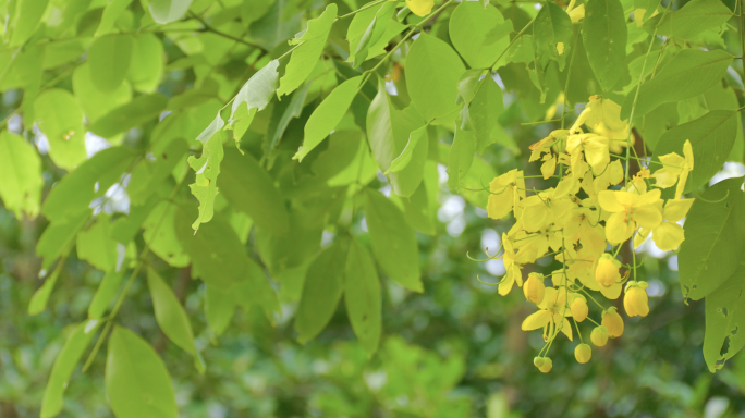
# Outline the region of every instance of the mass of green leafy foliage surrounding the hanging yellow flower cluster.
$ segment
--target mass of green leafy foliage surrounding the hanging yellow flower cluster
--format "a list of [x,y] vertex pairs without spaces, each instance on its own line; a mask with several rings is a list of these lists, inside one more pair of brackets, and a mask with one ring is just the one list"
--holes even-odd
[[[745,410],[745,359],[707,371],[742,347],[742,181],[705,192],[725,161],[711,183],[745,174],[742,7],[448,1],[423,19],[404,5],[3,7],[0,416]],[[459,88],[490,67],[478,95]],[[529,306],[479,282],[499,260],[465,257],[512,225],[469,189],[540,174],[528,146],[597,94],[633,109],[640,156],[691,139],[686,192],[711,204],[689,213],[698,247],[680,263],[638,251],[652,315],[589,365],[558,344],[541,374],[542,340],[520,330]],[[681,284],[713,302],[684,304]]]

